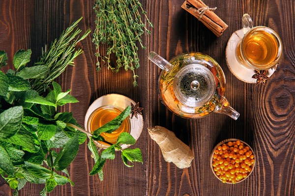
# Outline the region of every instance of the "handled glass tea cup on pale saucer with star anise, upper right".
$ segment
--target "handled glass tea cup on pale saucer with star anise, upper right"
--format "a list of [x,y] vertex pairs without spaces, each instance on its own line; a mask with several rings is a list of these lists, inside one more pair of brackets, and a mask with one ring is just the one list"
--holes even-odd
[[282,41],[273,29],[254,26],[248,14],[243,15],[242,23],[243,28],[228,42],[228,66],[238,79],[265,84],[282,57]]

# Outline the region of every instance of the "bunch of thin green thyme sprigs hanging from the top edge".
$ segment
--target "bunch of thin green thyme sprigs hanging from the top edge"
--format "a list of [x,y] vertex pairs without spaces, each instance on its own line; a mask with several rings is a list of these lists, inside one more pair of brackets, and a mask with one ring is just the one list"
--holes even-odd
[[[150,31],[142,20],[142,15],[149,26],[153,26],[141,3],[138,0],[96,0],[94,4],[96,15],[96,28],[93,32],[92,42],[96,46],[97,70],[100,70],[100,61],[106,62],[108,69],[118,72],[121,67],[125,71],[130,69],[133,72],[133,85],[137,86],[135,68],[139,64],[138,47],[145,49],[141,36]],[[99,46],[107,46],[106,55],[101,56]],[[110,56],[116,55],[116,66],[111,65]]]

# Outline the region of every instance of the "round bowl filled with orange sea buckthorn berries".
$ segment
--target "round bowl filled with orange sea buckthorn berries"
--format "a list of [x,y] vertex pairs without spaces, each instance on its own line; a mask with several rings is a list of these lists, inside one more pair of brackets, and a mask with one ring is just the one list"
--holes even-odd
[[227,139],[213,148],[210,163],[212,172],[220,181],[236,184],[253,172],[255,155],[247,143]]

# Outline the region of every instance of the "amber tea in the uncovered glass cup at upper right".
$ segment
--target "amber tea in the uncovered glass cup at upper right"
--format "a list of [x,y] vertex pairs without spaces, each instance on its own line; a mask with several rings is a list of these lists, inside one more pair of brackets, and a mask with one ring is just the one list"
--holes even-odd
[[277,59],[278,43],[274,35],[265,30],[248,32],[242,44],[244,57],[253,66],[269,69]]

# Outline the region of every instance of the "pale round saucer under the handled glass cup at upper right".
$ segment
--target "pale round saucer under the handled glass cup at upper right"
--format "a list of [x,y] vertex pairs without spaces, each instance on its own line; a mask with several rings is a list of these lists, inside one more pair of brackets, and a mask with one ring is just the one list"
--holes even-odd
[[[236,59],[236,46],[242,41],[243,37],[243,29],[237,30],[230,37],[225,49],[226,63],[230,71],[237,77],[237,79],[247,83],[256,83],[256,79],[252,78],[255,74],[254,68],[245,67]],[[275,69],[269,69],[267,71],[267,76],[270,77],[274,72]]]

